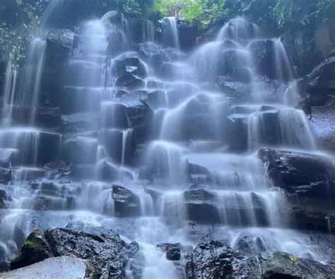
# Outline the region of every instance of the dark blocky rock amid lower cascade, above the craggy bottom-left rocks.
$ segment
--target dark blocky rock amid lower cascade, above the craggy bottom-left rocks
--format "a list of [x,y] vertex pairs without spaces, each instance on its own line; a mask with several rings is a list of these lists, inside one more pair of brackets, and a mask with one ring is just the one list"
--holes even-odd
[[112,198],[115,214],[120,217],[140,214],[139,197],[123,186],[113,185]]

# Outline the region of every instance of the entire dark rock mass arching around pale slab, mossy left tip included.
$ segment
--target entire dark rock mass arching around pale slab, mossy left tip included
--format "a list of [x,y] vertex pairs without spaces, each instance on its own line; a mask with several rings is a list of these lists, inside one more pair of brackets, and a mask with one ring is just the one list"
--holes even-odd
[[86,278],[124,278],[128,259],[136,253],[119,235],[92,235],[68,229],[33,232],[11,268],[27,266],[50,256],[74,256],[86,260]]

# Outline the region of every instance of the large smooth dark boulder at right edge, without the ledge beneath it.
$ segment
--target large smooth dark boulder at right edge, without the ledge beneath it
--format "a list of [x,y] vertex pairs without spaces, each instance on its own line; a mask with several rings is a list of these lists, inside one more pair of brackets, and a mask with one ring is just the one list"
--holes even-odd
[[331,158],[295,151],[260,149],[274,184],[290,193],[318,198],[335,196],[335,172]]

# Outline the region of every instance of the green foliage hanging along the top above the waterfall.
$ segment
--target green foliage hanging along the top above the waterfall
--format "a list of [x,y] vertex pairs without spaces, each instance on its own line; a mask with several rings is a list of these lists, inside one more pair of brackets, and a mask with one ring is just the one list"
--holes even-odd
[[[50,0],[1,0],[0,56],[8,52],[22,57],[26,40],[35,34]],[[66,0],[70,2],[70,0]],[[71,0],[76,2],[77,0]],[[157,19],[178,16],[208,28],[235,16],[247,16],[266,25],[271,32],[289,28],[314,30],[315,25],[335,18],[334,0],[91,0],[98,13],[117,8],[126,16]],[[77,3],[78,2],[78,3]],[[84,5],[89,0],[77,1]],[[0,57],[1,59],[1,57]]]

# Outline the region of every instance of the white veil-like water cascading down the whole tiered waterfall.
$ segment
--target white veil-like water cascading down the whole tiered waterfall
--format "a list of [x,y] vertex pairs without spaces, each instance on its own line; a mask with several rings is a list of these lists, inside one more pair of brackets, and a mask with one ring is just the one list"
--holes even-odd
[[[157,244],[194,245],[204,237],[194,230],[199,225],[225,235],[232,247],[250,237],[266,251],[324,261],[303,233],[288,230],[286,198],[256,152],[316,148],[303,112],[282,102],[293,73],[281,41],[261,39],[256,25],[237,18],[213,42],[182,54],[176,18],[165,19],[166,48],[155,42],[153,23],[141,22],[135,40],[136,22],[117,18],[110,12],[78,28],[64,69],[57,133],[35,124],[45,40],[30,46],[24,87],[8,65],[0,154],[18,181],[0,185],[11,195],[0,220],[0,251],[17,254],[35,228],[81,222],[139,242],[141,274],[130,265],[129,278],[162,278],[162,272],[178,278],[178,265]],[[258,52],[264,44],[265,58]],[[269,69],[274,74],[264,75]],[[13,124],[15,106],[29,107],[24,127]],[[41,146],[57,155],[45,158]],[[47,176],[49,165],[42,165],[59,158],[71,175],[66,169]]]

